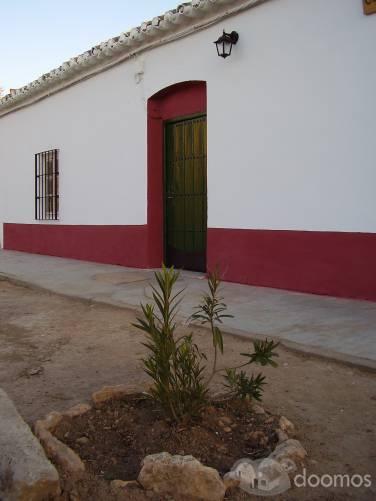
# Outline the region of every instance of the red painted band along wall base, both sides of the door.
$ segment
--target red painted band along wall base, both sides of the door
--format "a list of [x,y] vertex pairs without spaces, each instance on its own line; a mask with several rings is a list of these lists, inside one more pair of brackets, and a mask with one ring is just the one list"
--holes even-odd
[[[4,224],[4,248],[148,268],[146,226]],[[208,268],[263,287],[376,301],[376,234],[208,229]]]

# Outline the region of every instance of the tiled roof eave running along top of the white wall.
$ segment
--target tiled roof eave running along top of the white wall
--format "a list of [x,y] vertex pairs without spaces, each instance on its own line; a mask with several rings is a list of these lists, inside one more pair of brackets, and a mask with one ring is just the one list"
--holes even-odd
[[28,106],[131,56],[206,28],[268,0],[193,0],[64,62],[0,99],[0,117]]

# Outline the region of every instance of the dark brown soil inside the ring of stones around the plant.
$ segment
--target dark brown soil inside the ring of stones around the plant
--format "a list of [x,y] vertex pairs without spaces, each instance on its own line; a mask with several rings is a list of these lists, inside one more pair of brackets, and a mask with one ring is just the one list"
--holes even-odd
[[196,419],[173,423],[144,396],[110,401],[65,419],[54,435],[75,450],[88,471],[105,480],[136,480],[145,456],[192,455],[224,475],[239,458],[266,457],[275,448],[278,419],[249,404],[218,402]]

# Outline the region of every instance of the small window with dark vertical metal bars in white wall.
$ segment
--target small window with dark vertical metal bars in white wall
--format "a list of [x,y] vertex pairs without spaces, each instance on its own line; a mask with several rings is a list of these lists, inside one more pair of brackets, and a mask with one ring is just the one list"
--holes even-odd
[[35,219],[59,219],[58,150],[35,155]]

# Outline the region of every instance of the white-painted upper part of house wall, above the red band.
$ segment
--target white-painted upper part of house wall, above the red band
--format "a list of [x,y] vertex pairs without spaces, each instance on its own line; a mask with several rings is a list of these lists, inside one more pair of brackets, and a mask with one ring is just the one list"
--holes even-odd
[[147,98],[205,80],[210,227],[376,232],[375,46],[360,1],[274,0],[12,113],[0,222],[34,222],[34,153],[59,148],[62,224],[145,224]]

